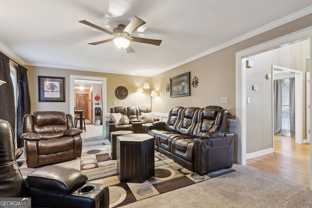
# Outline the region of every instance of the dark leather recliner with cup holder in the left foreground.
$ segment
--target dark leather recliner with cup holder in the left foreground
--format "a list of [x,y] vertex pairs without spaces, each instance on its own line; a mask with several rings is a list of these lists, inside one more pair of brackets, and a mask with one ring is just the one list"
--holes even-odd
[[29,169],[23,179],[15,159],[13,132],[9,122],[0,119],[0,196],[31,197],[32,207],[108,208],[109,190],[86,182],[80,170],[62,166]]

